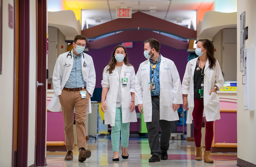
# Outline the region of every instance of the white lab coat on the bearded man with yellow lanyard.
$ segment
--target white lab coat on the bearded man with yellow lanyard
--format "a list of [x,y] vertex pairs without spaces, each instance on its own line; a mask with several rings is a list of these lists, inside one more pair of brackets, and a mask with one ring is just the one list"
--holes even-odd
[[[142,62],[136,74],[135,105],[142,104],[144,122],[152,122],[152,101],[150,83],[150,61]],[[180,75],[174,62],[161,57],[159,69],[160,81],[160,120],[179,120],[178,111],[173,111],[172,104],[182,104]]]

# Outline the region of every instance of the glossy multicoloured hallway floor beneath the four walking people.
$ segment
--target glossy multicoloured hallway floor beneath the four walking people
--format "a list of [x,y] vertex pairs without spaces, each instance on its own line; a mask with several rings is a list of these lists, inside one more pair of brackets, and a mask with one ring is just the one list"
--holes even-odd
[[[132,135],[131,135],[132,136]],[[100,136],[98,139],[90,138],[86,141],[86,149],[92,151],[90,158],[84,162],[78,162],[78,148],[76,146],[73,151],[74,159],[65,161],[66,152],[46,152],[47,167],[227,167],[236,166],[236,154],[211,154],[214,163],[204,163],[203,161],[195,161],[194,142],[186,140],[170,140],[168,150],[168,160],[161,160],[156,163],[149,163],[151,157],[148,145],[148,138],[139,138],[138,136],[130,137],[128,146],[128,159],[122,158],[122,147],[120,142],[119,161],[113,162],[112,144],[109,136]],[[204,154],[204,148],[202,149]]]

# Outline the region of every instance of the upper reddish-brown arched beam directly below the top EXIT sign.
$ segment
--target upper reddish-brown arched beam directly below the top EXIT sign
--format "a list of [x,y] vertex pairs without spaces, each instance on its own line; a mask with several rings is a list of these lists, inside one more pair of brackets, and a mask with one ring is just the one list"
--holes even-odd
[[126,30],[151,30],[179,36],[183,39],[196,39],[196,31],[174,24],[172,22],[159,19],[157,17],[135,12],[131,19],[118,18],[106,23],[94,26],[81,31],[81,34],[87,38],[96,38],[118,31]]

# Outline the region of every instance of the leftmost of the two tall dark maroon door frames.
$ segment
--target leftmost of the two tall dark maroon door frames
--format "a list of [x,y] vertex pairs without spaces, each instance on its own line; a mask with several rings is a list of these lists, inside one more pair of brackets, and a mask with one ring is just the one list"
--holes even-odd
[[[28,114],[29,114],[29,0],[19,1],[19,88],[17,162],[28,166]],[[17,163],[16,163],[17,165]]]

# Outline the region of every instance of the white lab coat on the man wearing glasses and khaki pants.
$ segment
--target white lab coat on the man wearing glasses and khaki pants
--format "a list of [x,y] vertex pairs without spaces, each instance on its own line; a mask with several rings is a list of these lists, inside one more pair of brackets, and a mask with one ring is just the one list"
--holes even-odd
[[[73,49],[71,50],[71,59],[70,56],[68,56],[67,58],[68,54],[69,52],[65,52],[58,57],[53,70],[52,85],[54,90],[54,96],[47,107],[52,112],[61,111],[59,95],[61,94],[61,91],[67,83],[73,67]],[[86,67],[83,66],[84,62],[86,63]],[[86,53],[82,53],[81,64],[83,79],[86,82],[86,90],[90,93],[90,97],[92,97],[92,93],[94,91],[96,84],[96,73],[92,57]],[[87,107],[86,114],[90,113],[92,113],[91,98],[89,98],[89,104]]]

